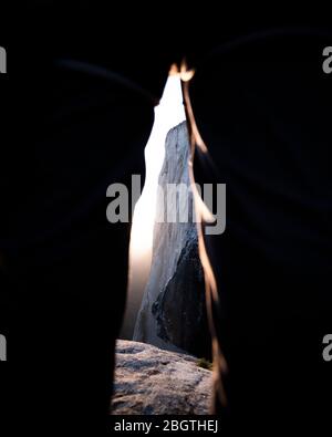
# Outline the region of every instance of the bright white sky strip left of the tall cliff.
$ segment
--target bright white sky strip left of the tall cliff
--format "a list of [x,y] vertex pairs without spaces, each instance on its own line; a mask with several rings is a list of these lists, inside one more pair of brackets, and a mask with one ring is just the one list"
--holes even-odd
[[126,313],[122,339],[131,339],[142,296],[148,279],[153,230],[156,210],[158,176],[165,156],[168,131],[186,118],[179,75],[169,75],[159,105],[155,108],[155,123],[145,148],[146,178],[138,199],[132,226],[129,277]]

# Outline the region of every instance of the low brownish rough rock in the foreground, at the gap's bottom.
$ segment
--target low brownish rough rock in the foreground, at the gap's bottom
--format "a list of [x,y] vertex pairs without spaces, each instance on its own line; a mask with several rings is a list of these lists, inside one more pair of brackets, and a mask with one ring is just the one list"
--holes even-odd
[[113,414],[208,414],[211,377],[193,356],[118,340]]

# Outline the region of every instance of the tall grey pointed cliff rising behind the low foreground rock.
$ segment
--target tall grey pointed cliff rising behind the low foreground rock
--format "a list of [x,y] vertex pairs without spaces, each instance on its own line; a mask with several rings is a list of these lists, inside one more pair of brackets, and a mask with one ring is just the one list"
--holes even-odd
[[[158,180],[164,196],[158,196],[157,200],[152,268],[134,340],[209,357],[210,337],[193,195],[187,190],[185,197],[167,196],[169,185],[190,186],[189,158],[184,122],[170,129],[166,138],[165,160]],[[164,222],[160,222],[162,217]],[[173,222],[169,217],[175,218]]]

